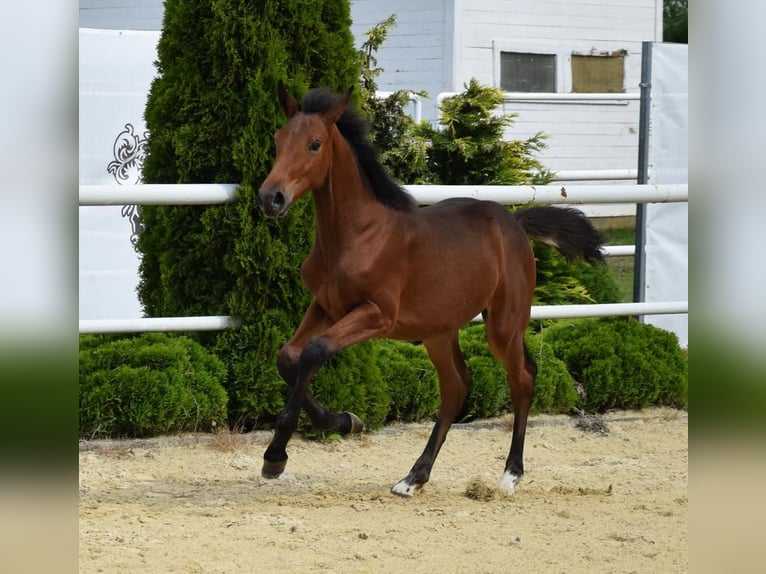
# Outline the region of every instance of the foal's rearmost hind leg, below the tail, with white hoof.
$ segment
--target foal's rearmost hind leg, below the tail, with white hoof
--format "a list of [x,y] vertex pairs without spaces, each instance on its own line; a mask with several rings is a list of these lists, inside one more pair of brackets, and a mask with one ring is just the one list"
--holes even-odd
[[511,450],[505,461],[505,470],[499,484],[500,488],[511,494],[524,474],[524,440],[529,409],[534,396],[537,365],[524,344],[524,329],[519,329],[515,335],[503,336],[496,328],[493,328],[491,323],[488,323],[487,337],[492,352],[505,366],[508,386],[511,389],[513,403]]

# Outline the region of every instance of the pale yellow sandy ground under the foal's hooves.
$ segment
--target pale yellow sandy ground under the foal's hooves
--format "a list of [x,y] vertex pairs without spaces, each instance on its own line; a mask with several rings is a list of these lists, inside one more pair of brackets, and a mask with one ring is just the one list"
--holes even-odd
[[81,443],[80,572],[687,571],[685,412],[532,417],[512,496],[506,422],[455,426],[411,499],[389,489],[431,425],[296,437],[272,481],[269,433]]

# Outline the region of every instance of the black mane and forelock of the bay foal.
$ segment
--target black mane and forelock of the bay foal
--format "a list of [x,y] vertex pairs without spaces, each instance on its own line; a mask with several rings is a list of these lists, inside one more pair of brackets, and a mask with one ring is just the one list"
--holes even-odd
[[[327,111],[341,96],[325,88],[311,90],[303,98],[303,113],[315,114]],[[378,161],[378,153],[367,137],[367,121],[356,110],[346,107],[336,122],[338,131],[356,154],[359,170],[375,194],[375,198],[392,209],[409,211],[416,203],[407,191],[396,183]]]

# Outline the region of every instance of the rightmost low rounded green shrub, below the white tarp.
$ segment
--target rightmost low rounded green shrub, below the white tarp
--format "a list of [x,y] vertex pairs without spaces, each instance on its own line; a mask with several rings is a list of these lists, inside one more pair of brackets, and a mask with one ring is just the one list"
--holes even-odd
[[588,411],[688,404],[688,360],[673,333],[614,317],[562,321],[541,336],[582,385]]

